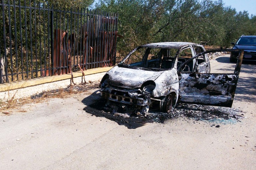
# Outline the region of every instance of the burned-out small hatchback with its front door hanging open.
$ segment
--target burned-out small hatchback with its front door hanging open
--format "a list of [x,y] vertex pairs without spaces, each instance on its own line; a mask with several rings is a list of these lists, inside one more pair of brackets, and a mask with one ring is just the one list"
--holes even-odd
[[171,112],[177,103],[231,107],[240,67],[234,74],[210,74],[202,45],[150,43],[135,48],[110,69],[101,80],[100,92],[108,103],[133,105],[135,112],[143,114],[154,106]]

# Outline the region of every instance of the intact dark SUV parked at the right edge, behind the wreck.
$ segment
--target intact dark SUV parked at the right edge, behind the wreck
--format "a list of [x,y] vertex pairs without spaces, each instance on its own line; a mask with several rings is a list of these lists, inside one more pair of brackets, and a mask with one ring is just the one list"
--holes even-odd
[[[231,42],[232,49],[244,49],[243,61],[256,61],[256,36],[242,35],[239,40]],[[237,62],[239,51],[231,51],[230,62]]]

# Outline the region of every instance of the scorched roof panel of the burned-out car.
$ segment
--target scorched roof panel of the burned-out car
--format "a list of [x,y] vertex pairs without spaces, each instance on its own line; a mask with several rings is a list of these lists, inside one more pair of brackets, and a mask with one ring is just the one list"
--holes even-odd
[[192,42],[157,42],[157,43],[149,43],[149,44],[144,44],[141,45],[142,47],[165,47],[165,48],[180,48],[185,45],[200,45],[197,43],[192,43]]

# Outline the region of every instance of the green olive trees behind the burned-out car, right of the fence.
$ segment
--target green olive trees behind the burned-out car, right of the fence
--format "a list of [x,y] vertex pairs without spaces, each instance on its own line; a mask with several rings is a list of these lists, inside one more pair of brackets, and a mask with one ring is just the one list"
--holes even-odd
[[118,50],[183,41],[229,47],[241,35],[256,35],[256,16],[222,0],[100,0],[96,9],[118,12]]

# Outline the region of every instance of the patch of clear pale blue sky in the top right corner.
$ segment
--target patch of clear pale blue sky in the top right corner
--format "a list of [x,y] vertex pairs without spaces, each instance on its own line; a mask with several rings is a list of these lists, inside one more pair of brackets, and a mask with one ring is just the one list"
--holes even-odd
[[256,0],[222,0],[225,6],[231,6],[239,11],[248,11],[249,15],[256,15]]

